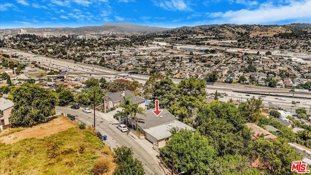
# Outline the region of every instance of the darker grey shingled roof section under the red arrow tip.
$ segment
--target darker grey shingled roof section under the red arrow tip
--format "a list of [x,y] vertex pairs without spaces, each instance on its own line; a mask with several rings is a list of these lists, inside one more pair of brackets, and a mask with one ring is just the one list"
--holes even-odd
[[[163,111],[159,116],[156,116],[152,111],[155,109],[148,109],[145,111],[146,116],[142,114],[136,114],[138,118],[138,126],[141,129],[148,129],[154,126],[158,126],[165,123],[170,123],[175,121],[175,116],[171,114],[168,110],[162,109]],[[162,118],[161,118],[162,116]]]

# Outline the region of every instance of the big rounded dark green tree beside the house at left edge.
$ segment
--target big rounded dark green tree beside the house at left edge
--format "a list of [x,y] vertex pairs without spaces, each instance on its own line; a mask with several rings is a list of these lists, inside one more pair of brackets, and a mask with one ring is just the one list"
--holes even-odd
[[10,123],[13,125],[33,125],[44,123],[53,113],[56,97],[52,91],[35,85],[16,88],[12,92],[14,108]]

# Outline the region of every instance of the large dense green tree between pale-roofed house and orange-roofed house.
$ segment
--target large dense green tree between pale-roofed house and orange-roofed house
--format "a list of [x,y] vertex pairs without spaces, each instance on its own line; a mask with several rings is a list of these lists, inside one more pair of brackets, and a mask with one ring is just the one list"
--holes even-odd
[[224,156],[250,152],[251,132],[244,123],[234,104],[218,101],[199,107],[194,127]]

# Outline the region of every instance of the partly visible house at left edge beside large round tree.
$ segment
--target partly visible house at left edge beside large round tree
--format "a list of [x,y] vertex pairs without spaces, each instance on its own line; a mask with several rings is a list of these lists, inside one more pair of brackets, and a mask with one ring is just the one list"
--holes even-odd
[[14,103],[11,100],[0,98],[0,129],[4,129],[5,126],[10,124],[9,118],[11,117],[11,111],[14,107]]

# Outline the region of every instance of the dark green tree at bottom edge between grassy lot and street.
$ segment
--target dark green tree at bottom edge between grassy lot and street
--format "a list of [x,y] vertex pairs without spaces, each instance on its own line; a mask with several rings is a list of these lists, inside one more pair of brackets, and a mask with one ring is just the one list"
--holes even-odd
[[114,162],[119,166],[115,169],[113,175],[144,175],[144,168],[142,163],[133,158],[133,151],[131,148],[125,146],[114,149]]

